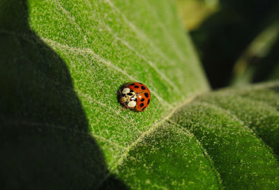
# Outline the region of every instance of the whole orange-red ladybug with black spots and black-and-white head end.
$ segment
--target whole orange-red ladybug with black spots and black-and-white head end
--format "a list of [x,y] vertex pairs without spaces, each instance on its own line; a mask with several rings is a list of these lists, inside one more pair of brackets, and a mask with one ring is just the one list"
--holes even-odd
[[144,111],[149,106],[151,95],[149,89],[141,83],[128,83],[120,91],[120,102],[123,109],[135,109]]

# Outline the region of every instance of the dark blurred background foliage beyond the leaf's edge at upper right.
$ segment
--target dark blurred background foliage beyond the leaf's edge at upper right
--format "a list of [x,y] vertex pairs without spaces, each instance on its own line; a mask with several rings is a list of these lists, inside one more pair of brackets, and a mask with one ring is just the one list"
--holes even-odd
[[279,78],[278,1],[176,4],[213,88]]

